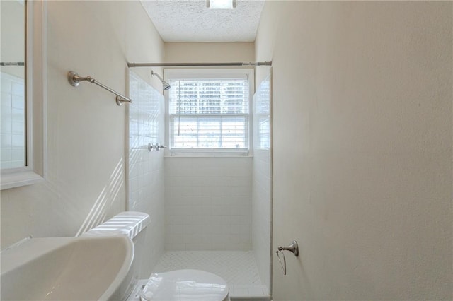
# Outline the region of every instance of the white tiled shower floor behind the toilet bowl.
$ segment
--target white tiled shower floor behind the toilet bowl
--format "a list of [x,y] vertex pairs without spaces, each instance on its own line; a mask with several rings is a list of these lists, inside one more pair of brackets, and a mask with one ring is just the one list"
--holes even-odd
[[261,283],[251,251],[168,251],[154,272],[184,268],[207,271],[224,278],[229,285],[229,296],[234,300],[268,299],[268,287]]

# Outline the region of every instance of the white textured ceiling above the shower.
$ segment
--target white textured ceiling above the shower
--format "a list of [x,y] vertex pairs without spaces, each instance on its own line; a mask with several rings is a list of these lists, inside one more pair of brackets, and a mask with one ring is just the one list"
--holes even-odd
[[165,42],[253,42],[265,0],[209,9],[205,0],[141,0]]

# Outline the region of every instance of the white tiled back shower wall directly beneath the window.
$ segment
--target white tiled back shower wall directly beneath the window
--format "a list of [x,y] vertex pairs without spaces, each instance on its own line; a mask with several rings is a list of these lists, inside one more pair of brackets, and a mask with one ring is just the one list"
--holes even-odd
[[251,158],[165,158],[166,251],[251,250]]

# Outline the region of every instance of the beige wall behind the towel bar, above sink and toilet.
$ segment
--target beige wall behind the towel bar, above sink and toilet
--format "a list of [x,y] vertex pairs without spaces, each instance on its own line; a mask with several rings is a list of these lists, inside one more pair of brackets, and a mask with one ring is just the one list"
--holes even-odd
[[26,235],[73,236],[125,210],[125,106],[96,85],[73,88],[67,72],[126,93],[127,61],[161,61],[164,52],[138,1],[46,3],[47,179],[1,191],[2,247]]

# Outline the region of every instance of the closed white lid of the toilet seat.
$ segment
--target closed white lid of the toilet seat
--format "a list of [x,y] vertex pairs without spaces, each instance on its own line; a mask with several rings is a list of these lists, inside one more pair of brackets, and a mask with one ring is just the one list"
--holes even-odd
[[228,297],[228,285],[213,273],[178,270],[152,273],[142,298],[149,301],[222,301]]

